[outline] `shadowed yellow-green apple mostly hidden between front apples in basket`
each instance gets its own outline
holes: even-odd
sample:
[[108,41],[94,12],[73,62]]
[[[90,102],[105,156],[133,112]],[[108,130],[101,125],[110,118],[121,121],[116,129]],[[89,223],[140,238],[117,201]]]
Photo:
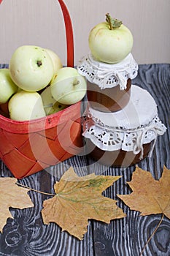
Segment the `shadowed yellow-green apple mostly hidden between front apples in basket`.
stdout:
[[50,86],[48,86],[44,91],[42,91],[41,97],[46,115],[51,115],[68,107],[68,105],[63,105],[59,102],[56,102],[56,100],[53,98],[51,94]]

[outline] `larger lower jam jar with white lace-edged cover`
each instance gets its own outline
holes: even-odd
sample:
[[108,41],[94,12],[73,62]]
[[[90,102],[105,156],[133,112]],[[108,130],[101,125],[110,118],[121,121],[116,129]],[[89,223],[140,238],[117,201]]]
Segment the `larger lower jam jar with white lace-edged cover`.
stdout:
[[104,113],[91,107],[85,112],[83,133],[86,154],[113,167],[136,165],[152,154],[155,140],[166,127],[148,91],[131,86],[131,99],[123,110]]

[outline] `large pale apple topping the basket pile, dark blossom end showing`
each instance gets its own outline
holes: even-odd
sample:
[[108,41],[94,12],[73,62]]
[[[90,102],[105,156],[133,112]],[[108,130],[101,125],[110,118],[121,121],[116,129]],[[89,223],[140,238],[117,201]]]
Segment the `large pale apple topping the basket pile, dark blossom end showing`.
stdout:
[[20,89],[39,91],[53,78],[53,61],[45,49],[34,45],[23,45],[12,54],[9,72]]

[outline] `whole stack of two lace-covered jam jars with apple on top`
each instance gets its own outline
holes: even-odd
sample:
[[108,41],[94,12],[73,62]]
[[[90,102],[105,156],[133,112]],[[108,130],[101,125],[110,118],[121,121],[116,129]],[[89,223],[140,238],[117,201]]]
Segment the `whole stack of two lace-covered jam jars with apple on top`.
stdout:
[[77,67],[88,81],[82,133],[87,154],[104,165],[135,165],[152,153],[166,127],[152,96],[131,84],[138,72],[133,36],[107,14],[106,22],[90,31],[88,42],[90,53]]

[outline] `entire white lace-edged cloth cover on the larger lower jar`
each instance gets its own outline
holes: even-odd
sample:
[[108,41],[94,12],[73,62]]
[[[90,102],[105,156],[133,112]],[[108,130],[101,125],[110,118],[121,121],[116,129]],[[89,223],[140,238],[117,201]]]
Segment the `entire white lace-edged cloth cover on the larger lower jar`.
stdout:
[[[158,118],[154,99],[139,86],[132,86],[128,105],[115,113],[101,113],[92,108],[85,111],[83,133],[104,151],[133,151],[143,157],[143,144],[156,141],[166,127]],[[152,145],[152,149],[155,143]],[[150,154],[152,150],[150,151]]]

